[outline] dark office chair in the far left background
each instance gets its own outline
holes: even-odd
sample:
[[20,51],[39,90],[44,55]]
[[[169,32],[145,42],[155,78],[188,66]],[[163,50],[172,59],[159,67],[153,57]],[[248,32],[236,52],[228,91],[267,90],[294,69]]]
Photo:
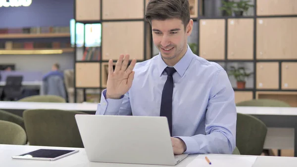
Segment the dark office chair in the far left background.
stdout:
[[22,81],[22,75],[6,77],[6,84],[2,92],[4,101],[15,101],[22,95]]

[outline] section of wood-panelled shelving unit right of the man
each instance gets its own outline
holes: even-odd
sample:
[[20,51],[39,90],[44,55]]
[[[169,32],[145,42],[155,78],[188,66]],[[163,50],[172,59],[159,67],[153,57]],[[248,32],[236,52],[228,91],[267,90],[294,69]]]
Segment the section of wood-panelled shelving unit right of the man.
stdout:
[[231,65],[253,72],[246,89],[238,89],[229,77],[236,103],[270,98],[297,107],[297,0],[252,2],[248,15],[225,16],[219,6],[212,13],[205,11],[214,8],[205,6],[210,0],[198,0],[199,14],[193,19],[197,55],[218,62],[227,72]]

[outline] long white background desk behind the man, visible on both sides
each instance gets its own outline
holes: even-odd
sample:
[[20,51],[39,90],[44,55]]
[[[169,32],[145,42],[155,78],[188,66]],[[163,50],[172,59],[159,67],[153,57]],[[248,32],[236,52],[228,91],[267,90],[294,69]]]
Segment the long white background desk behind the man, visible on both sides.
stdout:
[[[0,102],[0,109],[20,116],[29,109],[75,110],[95,114],[97,107],[97,103]],[[297,157],[297,108],[237,107],[237,112],[256,116],[269,128],[264,149],[294,149]]]

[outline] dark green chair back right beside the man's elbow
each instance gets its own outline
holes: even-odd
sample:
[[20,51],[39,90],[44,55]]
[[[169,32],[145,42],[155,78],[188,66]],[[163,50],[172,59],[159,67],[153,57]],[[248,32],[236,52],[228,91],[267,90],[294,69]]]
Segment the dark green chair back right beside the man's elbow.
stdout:
[[252,115],[237,113],[236,146],[242,155],[261,155],[267,127]]

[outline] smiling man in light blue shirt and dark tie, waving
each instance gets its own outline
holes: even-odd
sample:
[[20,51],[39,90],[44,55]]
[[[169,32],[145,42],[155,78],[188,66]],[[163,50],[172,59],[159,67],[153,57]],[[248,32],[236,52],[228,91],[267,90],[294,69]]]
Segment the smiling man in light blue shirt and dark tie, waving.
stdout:
[[120,55],[114,71],[109,60],[96,114],[166,116],[174,154],[232,154],[234,91],[220,65],[187,45],[193,29],[188,0],[150,0],[146,19],[159,55],[133,59],[128,67],[129,55]]

